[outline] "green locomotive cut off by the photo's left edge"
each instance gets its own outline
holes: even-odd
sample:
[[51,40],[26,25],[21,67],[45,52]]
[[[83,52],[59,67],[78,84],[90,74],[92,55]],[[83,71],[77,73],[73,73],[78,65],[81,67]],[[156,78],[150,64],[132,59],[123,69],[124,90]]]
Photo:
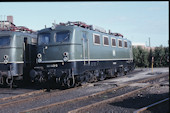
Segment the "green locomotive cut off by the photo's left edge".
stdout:
[[36,59],[37,35],[31,32],[21,26],[0,30],[0,85],[28,79]]

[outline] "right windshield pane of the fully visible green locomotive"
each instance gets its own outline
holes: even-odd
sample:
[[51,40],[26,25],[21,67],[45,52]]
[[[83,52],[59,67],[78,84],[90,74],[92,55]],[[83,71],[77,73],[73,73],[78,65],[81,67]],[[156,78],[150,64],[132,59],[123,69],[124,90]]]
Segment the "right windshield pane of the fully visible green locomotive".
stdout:
[[69,31],[60,31],[57,32],[55,35],[55,42],[68,42],[70,39],[70,33]]

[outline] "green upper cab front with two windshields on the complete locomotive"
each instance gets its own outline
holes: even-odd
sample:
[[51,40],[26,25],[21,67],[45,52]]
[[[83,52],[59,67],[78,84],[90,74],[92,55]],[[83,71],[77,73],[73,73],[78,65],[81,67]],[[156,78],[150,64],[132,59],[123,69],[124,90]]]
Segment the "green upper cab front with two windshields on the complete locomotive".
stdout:
[[[39,33],[37,62],[62,62],[62,60],[68,60],[63,58],[63,54],[64,52],[69,53],[71,39],[72,32],[70,30],[55,30]],[[61,54],[62,52],[63,54]]]

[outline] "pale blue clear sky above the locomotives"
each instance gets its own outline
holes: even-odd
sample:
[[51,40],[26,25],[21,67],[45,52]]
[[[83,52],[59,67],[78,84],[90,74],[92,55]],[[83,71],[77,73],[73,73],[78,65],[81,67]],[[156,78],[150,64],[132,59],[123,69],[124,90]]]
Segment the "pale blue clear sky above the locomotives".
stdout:
[[0,2],[0,20],[12,15],[14,24],[33,30],[57,23],[82,21],[107,32],[118,32],[132,43],[169,46],[169,2]]

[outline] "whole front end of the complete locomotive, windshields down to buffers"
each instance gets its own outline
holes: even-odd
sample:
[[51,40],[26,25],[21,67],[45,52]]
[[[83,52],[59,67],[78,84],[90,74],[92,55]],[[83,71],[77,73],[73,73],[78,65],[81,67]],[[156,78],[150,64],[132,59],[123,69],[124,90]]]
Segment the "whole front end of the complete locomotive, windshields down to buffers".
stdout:
[[63,74],[70,73],[72,30],[60,26],[47,28],[38,33],[37,66],[30,72],[32,81],[40,83],[53,79],[60,83]]

